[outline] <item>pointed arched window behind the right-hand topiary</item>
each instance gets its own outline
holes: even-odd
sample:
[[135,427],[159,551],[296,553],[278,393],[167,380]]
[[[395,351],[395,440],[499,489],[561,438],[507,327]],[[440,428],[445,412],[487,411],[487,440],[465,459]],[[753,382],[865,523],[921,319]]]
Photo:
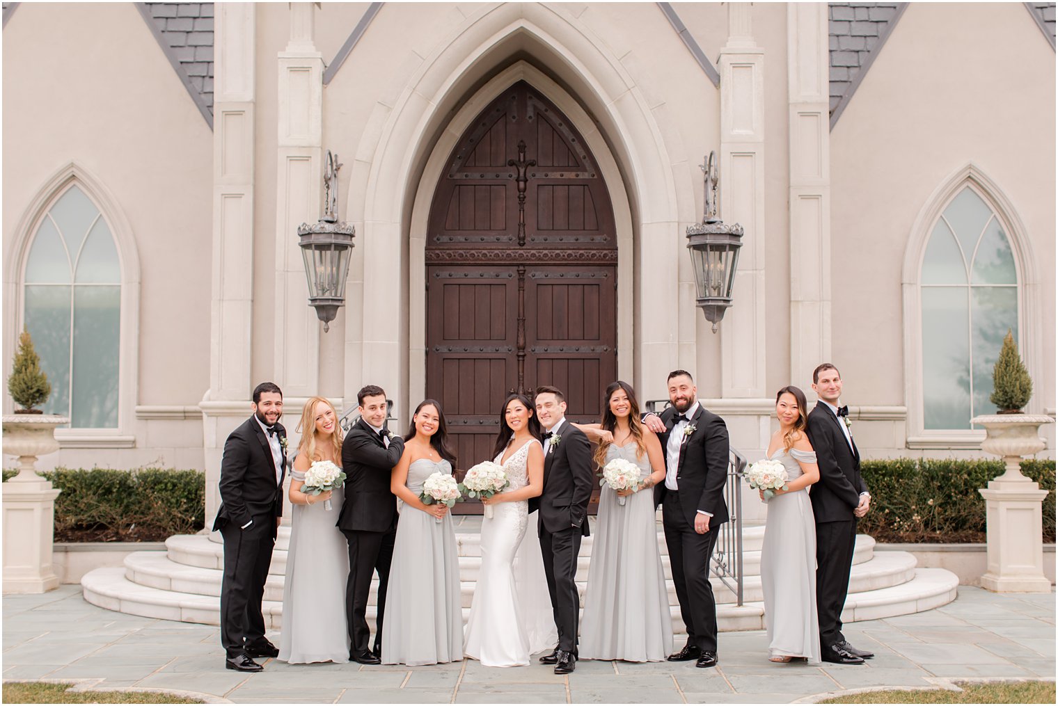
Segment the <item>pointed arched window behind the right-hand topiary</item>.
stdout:
[[925,430],[970,429],[996,411],[992,367],[1007,330],[1018,340],[1018,271],[1007,228],[969,184],[930,231],[922,262]]

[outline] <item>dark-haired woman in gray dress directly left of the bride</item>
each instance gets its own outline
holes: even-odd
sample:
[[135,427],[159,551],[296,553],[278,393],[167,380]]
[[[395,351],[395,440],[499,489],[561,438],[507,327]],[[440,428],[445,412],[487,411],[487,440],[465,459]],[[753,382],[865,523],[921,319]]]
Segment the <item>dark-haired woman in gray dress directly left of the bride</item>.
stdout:
[[[423,504],[422,484],[435,472],[452,475],[441,406],[426,400],[412,415],[404,453],[391,488],[400,520],[386,590],[382,663],[434,665],[463,656],[459,558],[449,508]],[[441,522],[436,520],[440,519]]]

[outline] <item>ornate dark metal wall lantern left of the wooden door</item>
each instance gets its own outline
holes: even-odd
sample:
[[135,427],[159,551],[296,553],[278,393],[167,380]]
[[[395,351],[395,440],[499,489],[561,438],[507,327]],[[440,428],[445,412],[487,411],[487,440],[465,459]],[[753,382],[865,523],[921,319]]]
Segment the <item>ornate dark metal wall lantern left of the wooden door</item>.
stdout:
[[297,227],[297,244],[305,260],[305,277],[309,284],[309,305],[330,331],[330,322],[345,303],[345,283],[349,278],[352,239],[355,228],[338,220],[338,171],[342,165],[338,155],[327,150],[324,169],[324,215],[312,225]]

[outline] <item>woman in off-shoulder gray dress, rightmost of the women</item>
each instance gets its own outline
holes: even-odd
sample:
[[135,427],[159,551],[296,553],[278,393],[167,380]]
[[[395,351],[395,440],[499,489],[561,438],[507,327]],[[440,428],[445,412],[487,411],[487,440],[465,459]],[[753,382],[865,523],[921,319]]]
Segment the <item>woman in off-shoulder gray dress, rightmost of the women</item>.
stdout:
[[768,520],[761,551],[768,657],[771,662],[803,657],[816,665],[820,662],[816,520],[808,487],[819,480],[819,467],[805,433],[808,410],[804,392],[794,386],[780,390],[776,414],[779,431],[768,444],[768,458],[786,467],[787,483],[785,490],[776,490],[767,501]]

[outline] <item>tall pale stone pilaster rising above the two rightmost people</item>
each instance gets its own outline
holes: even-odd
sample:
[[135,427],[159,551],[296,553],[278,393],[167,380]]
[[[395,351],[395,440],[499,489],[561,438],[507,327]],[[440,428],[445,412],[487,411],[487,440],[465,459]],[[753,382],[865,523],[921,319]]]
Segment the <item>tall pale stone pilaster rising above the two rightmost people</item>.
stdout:
[[831,359],[829,54],[825,3],[787,5],[789,378],[807,388]]

